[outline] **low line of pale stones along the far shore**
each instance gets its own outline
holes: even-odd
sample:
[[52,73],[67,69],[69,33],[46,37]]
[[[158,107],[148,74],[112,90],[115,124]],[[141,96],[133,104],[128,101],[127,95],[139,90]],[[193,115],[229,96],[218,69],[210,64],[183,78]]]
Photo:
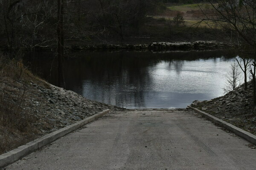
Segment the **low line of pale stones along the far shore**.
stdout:
[[71,46],[71,50],[152,50],[152,51],[165,51],[165,50],[212,50],[223,49],[228,45],[223,42],[215,41],[193,41],[193,42],[153,42],[151,44],[137,44],[137,45],[88,45],[88,46]]

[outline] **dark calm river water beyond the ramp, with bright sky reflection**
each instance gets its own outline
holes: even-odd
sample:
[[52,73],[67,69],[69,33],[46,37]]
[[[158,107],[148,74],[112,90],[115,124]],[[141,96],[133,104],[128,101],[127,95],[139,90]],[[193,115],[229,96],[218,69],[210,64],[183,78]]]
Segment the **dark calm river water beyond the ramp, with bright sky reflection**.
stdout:
[[[224,51],[69,55],[65,62],[68,90],[125,108],[186,108],[194,100],[222,96],[225,74],[233,62]],[[35,61],[36,72],[57,85],[57,62],[53,58],[54,54],[41,53]]]

